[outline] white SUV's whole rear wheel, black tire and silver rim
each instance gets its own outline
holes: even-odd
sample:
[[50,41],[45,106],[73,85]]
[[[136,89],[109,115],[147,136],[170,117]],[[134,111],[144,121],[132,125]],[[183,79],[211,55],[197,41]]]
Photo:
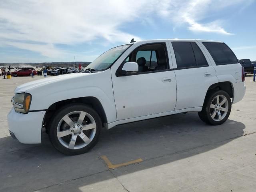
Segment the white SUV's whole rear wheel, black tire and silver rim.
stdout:
[[200,119],[212,125],[224,123],[231,111],[231,100],[228,93],[222,90],[211,91],[205,99],[202,111],[198,112]]

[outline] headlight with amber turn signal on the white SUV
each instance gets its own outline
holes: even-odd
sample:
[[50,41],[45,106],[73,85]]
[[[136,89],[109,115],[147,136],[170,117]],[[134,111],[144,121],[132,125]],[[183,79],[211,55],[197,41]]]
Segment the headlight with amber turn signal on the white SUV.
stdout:
[[14,110],[20,113],[28,113],[32,96],[28,93],[15,94],[12,98]]

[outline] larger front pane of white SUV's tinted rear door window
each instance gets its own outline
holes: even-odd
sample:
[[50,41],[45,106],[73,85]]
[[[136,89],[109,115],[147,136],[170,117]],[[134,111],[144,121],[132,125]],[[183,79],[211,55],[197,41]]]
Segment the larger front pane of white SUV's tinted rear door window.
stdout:
[[196,66],[196,59],[190,42],[172,42],[178,68]]

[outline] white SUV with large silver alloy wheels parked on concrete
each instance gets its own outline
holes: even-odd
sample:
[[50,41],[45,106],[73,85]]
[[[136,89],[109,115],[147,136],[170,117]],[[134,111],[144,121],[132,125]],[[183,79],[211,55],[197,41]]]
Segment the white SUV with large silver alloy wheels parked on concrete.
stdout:
[[8,124],[22,143],[41,143],[45,127],[57,150],[81,154],[102,127],[191,111],[222,124],[245,90],[243,68],[223,42],[132,41],[108,50],[84,73],[18,86]]

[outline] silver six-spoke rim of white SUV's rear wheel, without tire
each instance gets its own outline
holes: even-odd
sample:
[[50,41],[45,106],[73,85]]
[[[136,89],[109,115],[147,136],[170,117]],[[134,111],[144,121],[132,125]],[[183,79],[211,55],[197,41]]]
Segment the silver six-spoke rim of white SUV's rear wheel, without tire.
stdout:
[[217,95],[211,102],[210,115],[214,121],[221,121],[228,112],[228,100],[224,95]]

